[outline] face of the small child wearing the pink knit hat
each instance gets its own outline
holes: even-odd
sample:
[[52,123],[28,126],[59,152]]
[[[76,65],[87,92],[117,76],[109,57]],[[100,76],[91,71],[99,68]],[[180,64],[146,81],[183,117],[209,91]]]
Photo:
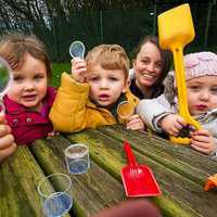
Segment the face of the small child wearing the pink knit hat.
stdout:
[[187,81],[189,112],[199,115],[217,107],[217,76],[203,76]]

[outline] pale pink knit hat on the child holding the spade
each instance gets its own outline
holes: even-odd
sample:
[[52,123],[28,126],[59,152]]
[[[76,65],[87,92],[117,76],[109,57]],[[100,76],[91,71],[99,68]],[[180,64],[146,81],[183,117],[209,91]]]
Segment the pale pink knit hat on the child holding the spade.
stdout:
[[217,55],[199,52],[184,55],[186,80],[206,75],[217,76]]

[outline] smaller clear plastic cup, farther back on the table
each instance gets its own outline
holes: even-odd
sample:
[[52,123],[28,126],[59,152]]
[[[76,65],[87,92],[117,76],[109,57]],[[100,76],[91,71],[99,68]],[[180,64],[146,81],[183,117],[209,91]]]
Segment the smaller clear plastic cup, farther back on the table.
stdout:
[[85,144],[72,144],[65,150],[65,161],[69,174],[86,174],[90,167],[89,148]]

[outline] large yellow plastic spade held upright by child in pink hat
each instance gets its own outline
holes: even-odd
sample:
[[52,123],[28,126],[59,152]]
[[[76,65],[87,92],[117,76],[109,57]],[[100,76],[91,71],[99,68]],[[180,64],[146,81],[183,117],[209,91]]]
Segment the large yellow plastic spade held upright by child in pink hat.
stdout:
[[[186,73],[183,67],[183,47],[195,36],[191,11],[188,3],[168,10],[157,16],[159,44],[171,50],[175,62],[176,84],[178,88],[179,115],[186,122],[200,129],[201,125],[189,113],[187,101]],[[189,138],[170,137],[174,143],[189,144]]]

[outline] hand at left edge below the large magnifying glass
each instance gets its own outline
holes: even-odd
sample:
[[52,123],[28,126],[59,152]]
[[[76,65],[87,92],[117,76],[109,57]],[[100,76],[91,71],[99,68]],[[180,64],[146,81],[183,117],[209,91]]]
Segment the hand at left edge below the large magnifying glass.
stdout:
[[7,122],[0,116],[0,162],[10,156],[16,149],[14,137]]

